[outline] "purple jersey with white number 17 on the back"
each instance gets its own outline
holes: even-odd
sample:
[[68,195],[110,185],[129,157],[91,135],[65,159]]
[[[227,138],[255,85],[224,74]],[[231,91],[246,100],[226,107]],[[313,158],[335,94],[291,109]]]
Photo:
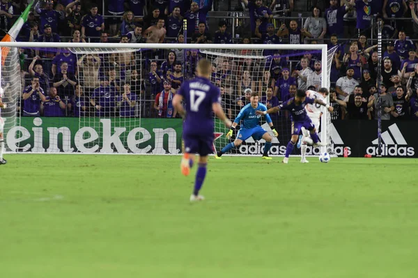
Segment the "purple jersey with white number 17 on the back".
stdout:
[[178,90],[178,95],[186,101],[186,120],[183,134],[188,136],[206,136],[213,138],[214,124],[212,104],[220,103],[219,88],[209,79],[197,77],[185,81]]

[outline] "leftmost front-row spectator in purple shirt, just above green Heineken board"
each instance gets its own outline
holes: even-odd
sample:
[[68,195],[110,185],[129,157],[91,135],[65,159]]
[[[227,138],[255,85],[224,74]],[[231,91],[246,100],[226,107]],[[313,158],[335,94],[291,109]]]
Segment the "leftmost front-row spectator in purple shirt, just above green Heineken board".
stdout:
[[39,78],[32,77],[31,85],[24,88],[23,116],[37,117],[40,115],[40,101],[45,101],[45,93],[40,88]]

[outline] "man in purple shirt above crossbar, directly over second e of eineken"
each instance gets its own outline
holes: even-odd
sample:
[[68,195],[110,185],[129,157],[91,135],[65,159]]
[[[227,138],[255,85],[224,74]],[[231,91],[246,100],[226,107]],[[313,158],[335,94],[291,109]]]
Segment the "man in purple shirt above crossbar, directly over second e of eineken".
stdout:
[[90,13],[82,19],[82,38],[90,38],[90,42],[98,42],[104,31],[104,19],[98,14],[98,5],[91,4]]

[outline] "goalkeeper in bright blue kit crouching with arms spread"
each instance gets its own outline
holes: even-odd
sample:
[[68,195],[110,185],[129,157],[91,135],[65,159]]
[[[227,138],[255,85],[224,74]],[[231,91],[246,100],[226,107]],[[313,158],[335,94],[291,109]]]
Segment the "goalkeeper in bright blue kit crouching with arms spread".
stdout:
[[[238,147],[241,145],[242,141],[252,137],[254,140],[260,140],[261,138],[265,140],[263,159],[272,159],[270,156],[268,156],[268,151],[270,150],[270,147],[272,147],[272,136],[270,136],[270,134],[260,126],[261,117],[260,115],[256,114],[256,111],[267,111],[267,107],[264,104],[258,103],[258,93],[253,92],[251,94],[250,103],[241,109],[240,113],[233,121],[229,132],[226,133],[226,138],[231,138],[236,126],[242,120],[241,129],[238,131],[236,139],[226,145],[222,151],[217,152],[215,158],[221,159],[222,154],[229,152],[235,147]],[[274,136],[277,137],[279,133],[277,133],[276,129],[274,129],[272,119],[268,114],[265,115],[265,121],[272,129]]]

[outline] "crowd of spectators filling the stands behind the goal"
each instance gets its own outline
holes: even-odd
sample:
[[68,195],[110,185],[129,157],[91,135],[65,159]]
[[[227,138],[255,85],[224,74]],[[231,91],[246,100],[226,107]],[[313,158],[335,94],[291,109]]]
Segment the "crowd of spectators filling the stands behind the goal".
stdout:
[[[249,32],[231,34],[230,21],[209,28],[213,0],[107,1],[104,16],[90,1],[39,1],[22,27],[23,42],[120,42],[183,44],[328,44],[337,47],[330,70],[332,119],[418,119],[418,17],[413,0],[330,0],[309,17],[290,15],[293,0],[241,0],[249,10]],[[146,10],[146,7],[150,7]],[[1,0],[0,28],[6,33],[24,6]],[[289,13],[288,13],[289,12]],[[187,19],[186,38],[183,19]],[[381,22],[381,24],[379,24]],[[235,23],[233,23],[235,24]],[[380,27],[379,27],[380,26]],[[376,37],[382,29],[382,67]],[[373,39],[372,39],[373,37]],[[245,47],[243,46],[243,49]],[[212,60],[212,79],[229,117],[258,92],[268,107],[296,90],[318,89],[323,70],[315,51],[245,51]],[[67,49],[22,48],[24,116],[177,117],[171,105],[185,79],[194,76],[199,49],[148,49],[109,54],[72,54]],[[244,58],[249,55],[266,59]],[[379,79],[380,88],[376,84]],[[7,85],[3,85],[7,87]],[[272,115],[273,117],[287,117]]]

